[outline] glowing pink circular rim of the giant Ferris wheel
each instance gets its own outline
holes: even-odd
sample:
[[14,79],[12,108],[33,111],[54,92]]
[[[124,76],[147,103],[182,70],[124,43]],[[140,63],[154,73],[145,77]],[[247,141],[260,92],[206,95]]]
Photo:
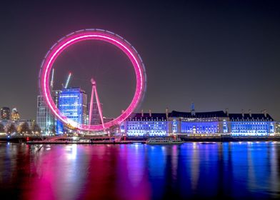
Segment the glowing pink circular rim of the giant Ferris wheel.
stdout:
[[[51,91],[49,87],[49,75],[51,73],[51,68],[61,52],[79,41],[93,39],[109,42],[110,44],[114,44],[114,46],[117,46],[119,49],[121,49],[121,51],[123,51],[126,56],[129,57],[129,60],[134,66],[134,71],[136,74],[136,90],[131,104],[129,104],[129,107],[125,111],[123,111],[120,116],[116,117],[116,119],[114,119],[113,121],[104,123],[104,126],[102,126],[102,124],[78,124],[61,114],[59,109],[56,107],[56,104],[54,104],[53,99],[51,98]],[[110,31],[104,31],[101,29],[84,29],[64,36],[62,39],[57,41],[54,46],[51,47],[41,64],[41,70],[39,73],[39,87],[41,95],[44,96],[46,104],[51,110],[52,114],[54,114],[57,119],[61,120],[64,124],[72,127],[73,129],[79,129],[81,131],[101,131],[120,124],[134,112],[137,106],[139,106],[142,99],[144,98],[144,93],[146,91],[146,72],[140,55],[138,54],[136,49],[134,49],[134,47],[131,46],[131,44],[129,44],[129,42],[124,38]]]

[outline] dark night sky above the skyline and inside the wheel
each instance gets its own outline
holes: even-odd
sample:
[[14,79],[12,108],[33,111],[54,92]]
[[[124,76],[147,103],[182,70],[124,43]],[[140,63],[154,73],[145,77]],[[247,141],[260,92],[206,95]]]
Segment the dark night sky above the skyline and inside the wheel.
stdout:
[[[24,119],[36,117],[37,79],[46,51],[62,36],[87,28],[113,31],[139,51],[148,77],[146,111],[189,111],[194,101],[197,111],[267,109],[280,119],[280,1],[1,1],[0,28],[0,106],[16,106]],[[133,71],[108,44],[79,44],[61,55],[56,85],[69,68],[74,70],[71,86],[80,79],[88,87],[82,79],[96,68],[77,71],[74,66],[92,64],[114,65],[118,78],[107,70],[108,84],[128,85],[127,96],[122,89],[121,95],[107,92],[112,95],[106,97],[105,75],[96,78],[104,107],[129,102],[133,84],[125,82],[133,82]]]

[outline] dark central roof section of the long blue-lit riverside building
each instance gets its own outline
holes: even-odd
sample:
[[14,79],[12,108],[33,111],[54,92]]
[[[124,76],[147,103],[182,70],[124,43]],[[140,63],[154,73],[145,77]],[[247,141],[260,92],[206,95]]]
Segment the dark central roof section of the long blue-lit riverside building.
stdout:
[[227,117],[224,111],[210,111],[210,112],[191,112],[171,111],[169,117],[184,117],[184,118],[212,118],[212,117]]

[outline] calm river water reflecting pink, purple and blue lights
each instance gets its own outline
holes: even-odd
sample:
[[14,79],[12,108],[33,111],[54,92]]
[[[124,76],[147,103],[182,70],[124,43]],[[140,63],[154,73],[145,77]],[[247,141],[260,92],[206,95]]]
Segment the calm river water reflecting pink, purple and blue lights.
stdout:
[[280,199],[280,143],[0,144],[0,199]]

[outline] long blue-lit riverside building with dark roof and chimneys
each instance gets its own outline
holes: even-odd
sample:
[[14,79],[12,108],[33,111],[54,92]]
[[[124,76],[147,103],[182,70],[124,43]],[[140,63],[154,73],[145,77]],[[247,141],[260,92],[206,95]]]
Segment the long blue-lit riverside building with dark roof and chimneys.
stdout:
[[190,112],[171,111],[165,114],[137,113],[120,125],[121,132],[127,136],[269,136],[279,131],[279,127],[266,111],[261,114],[251,114],[251,111],[249,114],[229,114],[228,111],[195,112],[194,109]]

